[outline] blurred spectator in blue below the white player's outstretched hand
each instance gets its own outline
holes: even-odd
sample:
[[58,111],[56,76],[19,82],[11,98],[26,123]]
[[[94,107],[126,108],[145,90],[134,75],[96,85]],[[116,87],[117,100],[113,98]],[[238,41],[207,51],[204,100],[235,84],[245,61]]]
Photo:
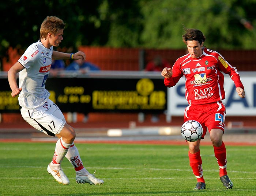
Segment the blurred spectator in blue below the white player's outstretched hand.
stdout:
[[100,70],[98,66],[86,62],[83,59],[78,59],[78,60],[74,60],[72,63],[69,64],[69,66],[67,66],[65,68],[65,70],[69,70],[69,71],[79,71],[79,70],[84,70],[84,71],[98,71]]

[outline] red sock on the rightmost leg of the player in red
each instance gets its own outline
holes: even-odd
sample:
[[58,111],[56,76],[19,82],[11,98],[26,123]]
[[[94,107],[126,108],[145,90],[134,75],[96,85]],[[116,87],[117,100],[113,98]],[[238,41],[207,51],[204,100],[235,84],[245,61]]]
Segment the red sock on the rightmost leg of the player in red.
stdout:
[[213,148],[214,155],[219,164],[219,177],[227,175],[227,152],[224,142],[222,142],[221,146],[213,146]]

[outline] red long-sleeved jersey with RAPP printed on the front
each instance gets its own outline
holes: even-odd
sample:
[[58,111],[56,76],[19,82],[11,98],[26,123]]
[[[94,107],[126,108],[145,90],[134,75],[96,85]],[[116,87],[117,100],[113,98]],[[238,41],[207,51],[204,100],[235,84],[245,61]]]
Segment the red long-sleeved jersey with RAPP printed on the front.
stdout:
[[172,67],[173,75],[164,79],[167,87],[177,84],[184,75],[185,98],[189,104],[202,105],[225,99],[224,75],[229,74],[236,87],[244,89],[235,67],[232,67],[218,52],[204,47],[202,56],[181,56]]

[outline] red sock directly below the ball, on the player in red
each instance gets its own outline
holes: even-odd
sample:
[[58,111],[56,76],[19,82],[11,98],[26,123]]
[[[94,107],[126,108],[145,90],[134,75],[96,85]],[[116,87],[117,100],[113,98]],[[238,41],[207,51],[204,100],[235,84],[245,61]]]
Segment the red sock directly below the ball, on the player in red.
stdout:
[[200,150],[195,154],[191,154],[190,152],[188,152],[188,157],[189,165],[192,168],[193,174],[196,176],[197,182],[205,183],[203,177],[202,158],[200,156]]

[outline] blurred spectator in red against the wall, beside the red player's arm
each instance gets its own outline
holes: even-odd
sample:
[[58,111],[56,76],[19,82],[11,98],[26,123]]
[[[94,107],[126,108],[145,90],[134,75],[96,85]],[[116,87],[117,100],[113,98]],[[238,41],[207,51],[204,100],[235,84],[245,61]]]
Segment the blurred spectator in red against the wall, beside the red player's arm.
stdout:
[[170,63],[163,59],[161,56],[157,55],[155,58],[148,62],[145,71],[162,71],[163,68],[170,67]]

